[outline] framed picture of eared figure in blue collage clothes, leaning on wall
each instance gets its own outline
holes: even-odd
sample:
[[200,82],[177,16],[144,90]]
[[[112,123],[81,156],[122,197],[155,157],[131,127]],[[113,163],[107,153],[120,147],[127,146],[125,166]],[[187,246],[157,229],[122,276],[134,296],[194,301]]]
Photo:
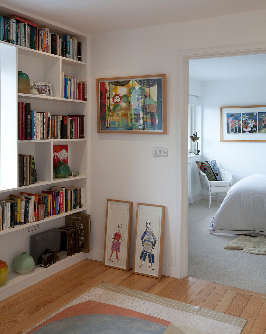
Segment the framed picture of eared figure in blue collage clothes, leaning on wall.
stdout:
[[137,203],[133,273],[161,278],[164,205]]

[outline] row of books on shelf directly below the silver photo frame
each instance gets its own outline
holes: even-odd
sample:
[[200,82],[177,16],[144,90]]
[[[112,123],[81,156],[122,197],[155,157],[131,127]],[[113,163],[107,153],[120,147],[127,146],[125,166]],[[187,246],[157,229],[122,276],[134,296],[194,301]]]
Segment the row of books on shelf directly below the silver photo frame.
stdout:
[[83,139],[84,115],[54,116],[39,113],[30,103],[18,103],[18,140]]

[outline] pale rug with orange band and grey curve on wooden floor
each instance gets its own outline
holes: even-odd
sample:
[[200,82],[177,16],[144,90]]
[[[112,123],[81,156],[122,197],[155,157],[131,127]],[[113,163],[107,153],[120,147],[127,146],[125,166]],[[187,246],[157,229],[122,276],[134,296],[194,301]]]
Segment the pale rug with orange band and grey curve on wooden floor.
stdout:
[[239,334],[247,320],[102,282],[25,333]]

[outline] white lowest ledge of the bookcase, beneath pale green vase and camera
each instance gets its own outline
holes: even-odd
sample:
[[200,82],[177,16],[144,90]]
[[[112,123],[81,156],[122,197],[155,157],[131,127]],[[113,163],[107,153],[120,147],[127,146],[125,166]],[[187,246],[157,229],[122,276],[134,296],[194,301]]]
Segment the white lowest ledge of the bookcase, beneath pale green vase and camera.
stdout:
[[45,278],[58,273],[59,271],[68,268],[76,263],[87,258],[87,253],[79,253],[67,257],[61,261],[57,261],[55,264],[48,268],[41,268],[36,266],[32,271],[27,274],[19,274],[15,271],[9,273],[9,278],[0,287],[0,300],[14,295],[15,293],[28,288],[29,286],[38,283]]

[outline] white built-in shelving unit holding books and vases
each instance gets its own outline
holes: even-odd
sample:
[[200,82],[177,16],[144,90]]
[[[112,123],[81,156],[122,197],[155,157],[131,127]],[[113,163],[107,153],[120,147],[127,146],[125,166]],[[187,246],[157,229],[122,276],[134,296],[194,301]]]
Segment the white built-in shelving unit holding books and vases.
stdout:
[[[34,18],[26,13],[18,13],[7,6],[0,5],[0,15],[16,15],[34,22],[38,27],[47,26],[49,31],[59,35],[76,36],[84,44],[84,59],[87,59],[86,34],[73,31],[67,27],[55,25],[52,22]],[[4,69],[4,71],[3,71]],[[30,81],[51,82],[53,97],[33,96],[17,92],[18,70],[28,74]],[[39,228],[23,234],[29,224],[16,225],[0,231],[0,259],[9,268],[9,279],[0,287],[0,300],[12,295],[54,273],[63,270],[87,257],[85,253],[70,256],[48,268],[35,267],[28,274],[18,274],[12,271],[14,259],[21,252],[29,253],[30,235],[50,228],[64,225],[64,217],[68,214],[87,213],[88,203],[88,110],[87,101],[61,98],[61,72],[70,78],[88,81],[87,61],[77,61],[61,56],[32,50],[18,45],[0,41],[0,98],[1,98],[1,184],[0,199],[20,191],[39,193],[50,186],[83,187],[83,207],[61,215],[53,215],[37,221]],[[6,72],[6,76],[3,73]],[[5,74],[5,73],[4,73]],[[10,81],[7,81],[7,79]],[[6,83],[9,84],[8,87]],[[13,89],[12,89],[13,87]],[[56,140],[18,140],[18,102],[31,104],[31,109],[37,112],[50,112],[51,115],[83,114],[85,115],[84,139]],[[5,124],[3,124],[5,121]],[[6,123],[7,122],[7,123]],[[8,135],[8,136],[7,136]],[[10,140],[11,137],[11,140]],[[3,145],[3,142],[6,145]],[[53,145],[69,145],[69,166],[79,172],[79,176],[69,176],[65,179],[52,179],[52,147]],[[8,152],[8,153],[7,153]],[[8,157],[6,158],[6,154]],[[18,154],[34,155],[37,171],[37,183],[18,187]],[[9,171],[9,172],[8,172]],[[3,172],[5,175],[3,175]],[[6,186],[4,180],[9,180]],[[7,189],[8,188],[8,189]],[[31,223],[31,224],[36,224]],[[28,235],[29,234],[29,235]]]

